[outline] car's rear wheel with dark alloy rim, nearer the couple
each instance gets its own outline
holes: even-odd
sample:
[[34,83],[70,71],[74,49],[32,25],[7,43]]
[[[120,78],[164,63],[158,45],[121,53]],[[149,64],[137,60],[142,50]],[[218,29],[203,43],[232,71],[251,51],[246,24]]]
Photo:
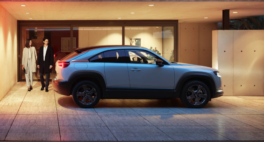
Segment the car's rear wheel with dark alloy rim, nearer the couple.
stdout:
[[91,81],[81,81],[73,88],[72,99],[82,108],[94,107],[101,98],[99,87]]

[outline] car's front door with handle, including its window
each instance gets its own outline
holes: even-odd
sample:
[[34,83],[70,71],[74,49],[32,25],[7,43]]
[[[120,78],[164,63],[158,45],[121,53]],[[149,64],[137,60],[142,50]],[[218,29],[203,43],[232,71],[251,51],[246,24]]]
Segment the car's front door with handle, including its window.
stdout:
[[160,59],[146,50],[126,50],[130,57],[128,74],[131,93],[140,98],[171,98],[174,92],[174,68],[156,65]]

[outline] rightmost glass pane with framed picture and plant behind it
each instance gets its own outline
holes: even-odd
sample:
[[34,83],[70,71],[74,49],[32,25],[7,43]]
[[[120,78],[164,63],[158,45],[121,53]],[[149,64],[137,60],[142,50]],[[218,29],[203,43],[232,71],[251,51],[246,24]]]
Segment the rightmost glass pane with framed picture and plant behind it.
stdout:
[[146,47],[174,61],[174,27],[125,27],[125,44]]

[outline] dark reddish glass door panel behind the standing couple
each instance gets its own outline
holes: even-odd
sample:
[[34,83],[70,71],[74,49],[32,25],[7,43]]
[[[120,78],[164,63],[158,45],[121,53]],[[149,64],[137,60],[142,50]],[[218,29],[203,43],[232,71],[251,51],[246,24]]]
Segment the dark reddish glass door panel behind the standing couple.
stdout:
[[[74,35],[74,46],[78,46],[75,40],[78,40],[78,33]],[[19,46],[19,80],[25,81],[25,73],[22,71],[22,52],[25,48],[25,42],[28,38],[32,39],[32,46],[37,50],[39,56],[39,48],[44,45],[43,38],[49,38],[49,46],[53,47],[54,63],[50,79],[55,77],[55,63],[56,61],[70,53],[70,27],[21,27],[21,41]],[[37,61],[36,61],[37,64]],[[33,81],[38,81],[39,70],[33,73]]]

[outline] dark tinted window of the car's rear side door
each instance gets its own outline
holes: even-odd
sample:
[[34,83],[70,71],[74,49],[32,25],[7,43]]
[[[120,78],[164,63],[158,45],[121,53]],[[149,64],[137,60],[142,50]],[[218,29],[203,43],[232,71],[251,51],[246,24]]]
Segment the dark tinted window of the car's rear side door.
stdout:
[[125,63],[124,50],[111,50],[104,52],[104,62]]

